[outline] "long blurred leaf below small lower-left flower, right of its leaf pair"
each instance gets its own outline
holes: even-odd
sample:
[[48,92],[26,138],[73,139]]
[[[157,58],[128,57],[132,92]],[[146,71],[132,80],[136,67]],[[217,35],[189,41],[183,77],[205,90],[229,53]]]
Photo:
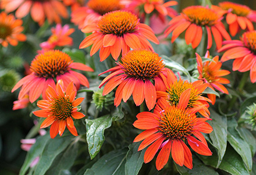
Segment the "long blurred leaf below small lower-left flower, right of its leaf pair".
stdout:
[[50,140],[46,145],[44,152],[42,152],[42,156],[37,163],[34,174],[45,174],[56,156],[67,148],[72,138],[74,138],[73,135],[62,135],[62,137],[57,136]]

